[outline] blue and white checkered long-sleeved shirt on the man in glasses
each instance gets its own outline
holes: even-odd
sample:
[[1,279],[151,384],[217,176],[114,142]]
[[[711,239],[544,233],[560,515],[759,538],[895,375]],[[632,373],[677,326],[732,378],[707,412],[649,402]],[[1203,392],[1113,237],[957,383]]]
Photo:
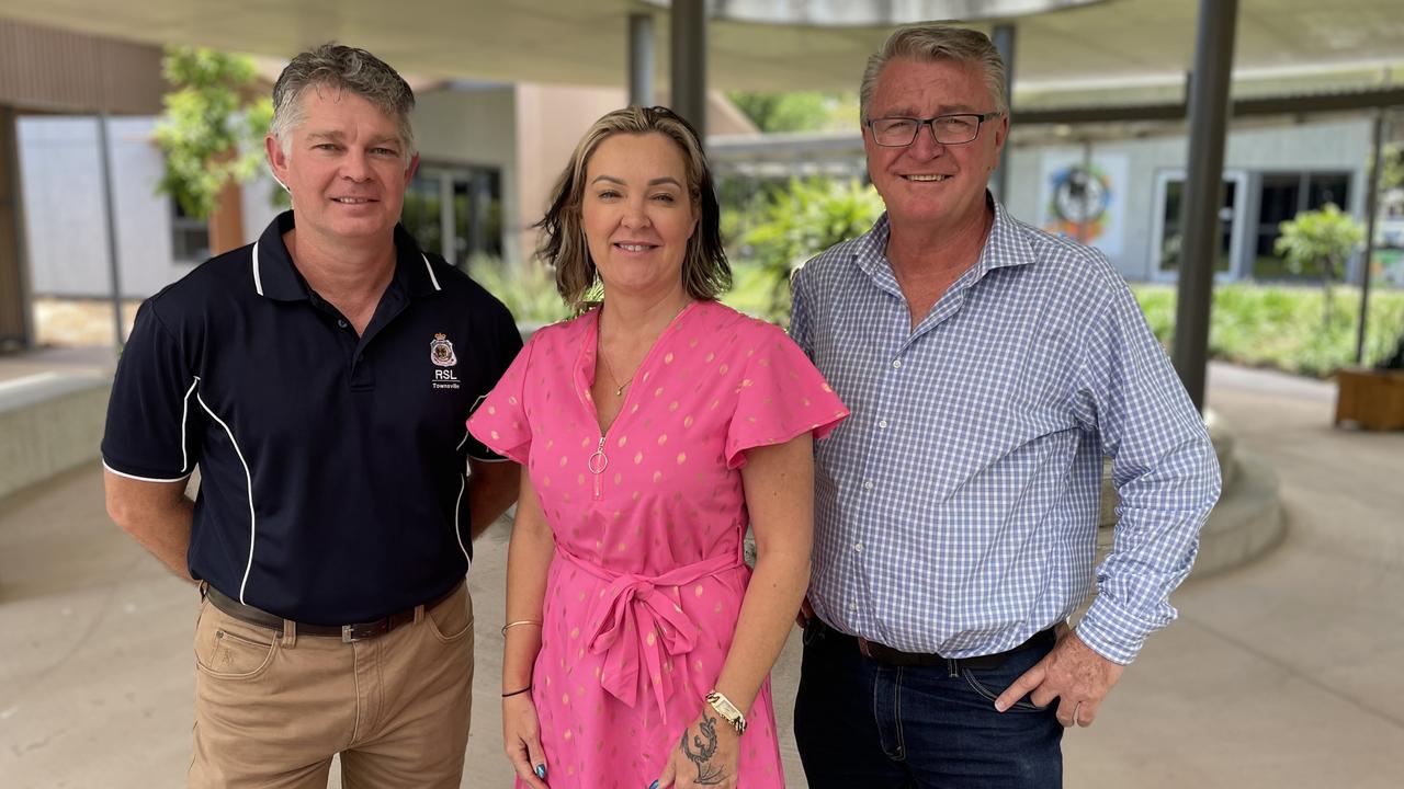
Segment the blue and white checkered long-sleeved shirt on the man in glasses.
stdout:
[[792,334],[852,416],[816,445],[810,602],[917,653],[1011,649],[1092,591],[1102,456],[1120,496],[1077,633],[1130,663],[1175,618],[1219,498],[1203,420],[1116,270],[995,205],[911,329],[887,218],[795,277]]

